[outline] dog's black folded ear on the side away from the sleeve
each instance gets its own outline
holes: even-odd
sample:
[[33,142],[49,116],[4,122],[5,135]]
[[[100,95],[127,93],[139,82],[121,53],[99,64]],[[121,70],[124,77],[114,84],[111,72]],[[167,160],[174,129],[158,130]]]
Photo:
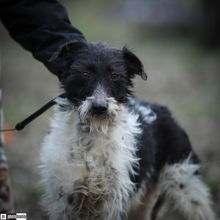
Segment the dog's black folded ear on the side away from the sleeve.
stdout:
[[141,76],[143,80],[147,80],[147,74],[144,72],[143,64],[138,59],[138,57],[134,55],[127,47],[124,47],[122,51],[123,51],[125,66],[131,78],[134,78],[135,74],[138,74]]

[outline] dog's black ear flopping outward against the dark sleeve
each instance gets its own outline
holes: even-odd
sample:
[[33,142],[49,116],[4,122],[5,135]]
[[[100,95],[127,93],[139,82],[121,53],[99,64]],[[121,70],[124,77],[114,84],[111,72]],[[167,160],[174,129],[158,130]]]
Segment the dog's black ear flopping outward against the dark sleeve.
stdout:
[[53,61],[58,57],[65,59],[69,54],[77,53],[77,51],[83,48],[85,45],[85,40],[75,40],[62,44],[59,46],[58,51],[55,52],[50,58],[50,61]]

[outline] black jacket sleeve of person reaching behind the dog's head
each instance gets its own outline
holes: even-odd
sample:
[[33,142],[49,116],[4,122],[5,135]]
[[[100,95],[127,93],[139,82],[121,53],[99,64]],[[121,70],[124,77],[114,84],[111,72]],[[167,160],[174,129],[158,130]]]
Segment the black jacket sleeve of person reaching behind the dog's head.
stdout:
[[57,76],[65,61],[49,62],[53,53],[63,43],[84,38],[56,0],[0,0],[0,17],[11,37]]

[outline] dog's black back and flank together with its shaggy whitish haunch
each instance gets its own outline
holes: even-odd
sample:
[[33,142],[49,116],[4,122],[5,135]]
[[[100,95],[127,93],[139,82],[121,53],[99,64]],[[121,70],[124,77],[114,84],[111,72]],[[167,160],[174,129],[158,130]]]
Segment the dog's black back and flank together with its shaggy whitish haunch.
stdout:
[[215,219],[209,190],[201,181],[199,159],[170,111],[135,99],[130,108],[139,115],[143,129],[138,138],[140,169],[135,181],[140,188],[147,183],[144,205],[135,207],[130,219]]

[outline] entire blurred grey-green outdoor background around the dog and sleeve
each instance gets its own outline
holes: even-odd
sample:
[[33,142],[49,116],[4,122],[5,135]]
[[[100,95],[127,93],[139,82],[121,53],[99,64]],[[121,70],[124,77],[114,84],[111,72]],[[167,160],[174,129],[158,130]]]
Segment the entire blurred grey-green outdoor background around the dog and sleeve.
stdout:
[[[169,106],[202,161],[220,215],[220,1],[60,1],[88,41],[133,48],[148,74],[135,79],[136,96]],[[59,81],[21,48],[0,24],[1,86],[5,128],[62,91]],[[39,205],[39,150],[49,110],[24,131],[5,133],[16,212],[47,219]]]

